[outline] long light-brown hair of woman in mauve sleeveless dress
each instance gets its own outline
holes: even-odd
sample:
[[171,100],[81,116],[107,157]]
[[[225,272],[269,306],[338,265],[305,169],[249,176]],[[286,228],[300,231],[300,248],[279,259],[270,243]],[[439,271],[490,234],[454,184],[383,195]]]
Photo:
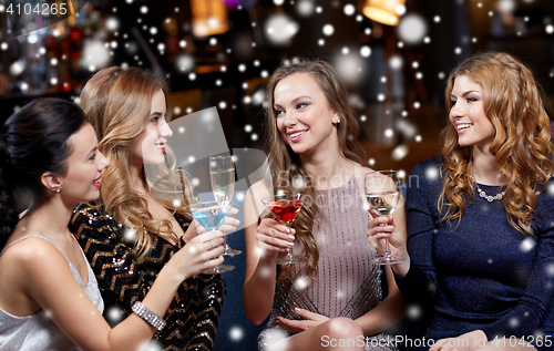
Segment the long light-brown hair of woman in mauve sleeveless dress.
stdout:
[[[271,75],[266,89],[268,103],[266,109],[266,145],[268,145],[269,148],[269,169],[274,175],[279,174],[286,177],[286,179],[283,179],[280,176],[278,179],[273,179],[274,192],[278,189],[293,192],[293,179],[296,179],[298,176],[309,177],[298,154],[294,153],[283,140],[277,128],[277,116],[274,111],[275,87],[283,79],[297,73],[310,74],[324,92],[330,109],[339,114],[340,124],[337,124],[337,135],[343,155],[363,166],[368,166],[366,151],[358,142],[359,130],[356,113],[350,105],[348,92],[339,80],[335,69],[322,60],[299,60],[298,62],[279,66]],[[314,188],[314,183],[306,182],[305,184],[306,187],[301,190],[302,195],[315,199],[316,190]],[[305,264],[306,272],[308,277],[315,279],[317,262],[319,260],[319,250],[314,238],[312,228],[318,206],[316,200],[309,202],[306,205],[302,206],[297,215],[294,227],[296,229],[296,240],[308,258]],[[280,266],[280,268],[278,281],[283,281],[289,277],[293,270],[291,266]]]

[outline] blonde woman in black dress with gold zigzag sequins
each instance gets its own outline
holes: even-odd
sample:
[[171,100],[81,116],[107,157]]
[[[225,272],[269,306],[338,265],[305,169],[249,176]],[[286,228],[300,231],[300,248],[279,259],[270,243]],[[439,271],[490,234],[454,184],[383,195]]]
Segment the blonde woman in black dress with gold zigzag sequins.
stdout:
[[[103,176],[101,200],[78,206],[70,228],[91,262],[104,300],[126,316],[171,257],[197,236],[185,207],[154,198],[145,177],[144,165],[165,164],[167,138],[173,134],[166,122],[167,87],[150,71],[113,66],[86,83],[80,105],[111,168]],[[229,218],[226,224],[237,221]],[[206,252],[189,255],[199,258]],[[155,335],[164,349],[213,348],[224,280],[220,275],[199,272],[178,287],[165,312],[167,326]]]

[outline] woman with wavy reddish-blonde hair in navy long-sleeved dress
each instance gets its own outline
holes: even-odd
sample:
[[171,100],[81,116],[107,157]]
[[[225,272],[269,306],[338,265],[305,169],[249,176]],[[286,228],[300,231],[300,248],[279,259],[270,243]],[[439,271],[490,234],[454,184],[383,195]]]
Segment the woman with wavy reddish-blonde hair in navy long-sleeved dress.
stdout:
[[554,296],[553,145],[540,87],[514,56],[484,52],[451,72],[445,101],[442,156],[410,176],[408,241],[379,218],[370,242],[381,249],[390,237],[409,257],[392,269],[409,301],[433,309],[430,350],[551,350],[552,335],[535,333]]

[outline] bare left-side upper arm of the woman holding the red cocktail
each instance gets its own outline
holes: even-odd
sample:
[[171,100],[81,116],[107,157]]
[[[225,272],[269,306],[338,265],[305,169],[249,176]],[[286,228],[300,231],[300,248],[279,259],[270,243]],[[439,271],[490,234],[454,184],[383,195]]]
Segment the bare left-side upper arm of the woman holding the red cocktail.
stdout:
[[263,182],[255,183],[246,193],[244,205],[244,235],[246,247],[245,283],[250,279],[259,261],[256,228],[258,219],[265,210],[261,198],[270,195]]

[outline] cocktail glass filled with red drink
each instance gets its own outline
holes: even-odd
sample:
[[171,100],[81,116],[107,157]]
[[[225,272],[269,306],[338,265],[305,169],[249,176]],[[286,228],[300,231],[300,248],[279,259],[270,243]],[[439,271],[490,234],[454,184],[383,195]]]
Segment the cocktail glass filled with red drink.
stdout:
[[[265,197],[261,203],[269,209],[278,221],[286,225],[290,229],[290,225],[296,218],[296,215],[302,207],[301,194],[295,193],[291,195],[280,194]],[[277,258],[277,265],[291,265],[306,261],[306,256],[294,255],[293,248],[289,248],[287,255]]]

